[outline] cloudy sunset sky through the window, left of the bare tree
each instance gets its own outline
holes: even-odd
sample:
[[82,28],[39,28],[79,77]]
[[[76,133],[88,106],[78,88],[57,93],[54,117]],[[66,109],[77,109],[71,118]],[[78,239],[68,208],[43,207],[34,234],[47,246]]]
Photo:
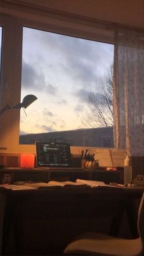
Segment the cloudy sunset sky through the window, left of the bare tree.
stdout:
[[21,109],[20,134],[84,128],[88,94],[111,64],[113,45],[24,27],[21,101],[38,99]]

